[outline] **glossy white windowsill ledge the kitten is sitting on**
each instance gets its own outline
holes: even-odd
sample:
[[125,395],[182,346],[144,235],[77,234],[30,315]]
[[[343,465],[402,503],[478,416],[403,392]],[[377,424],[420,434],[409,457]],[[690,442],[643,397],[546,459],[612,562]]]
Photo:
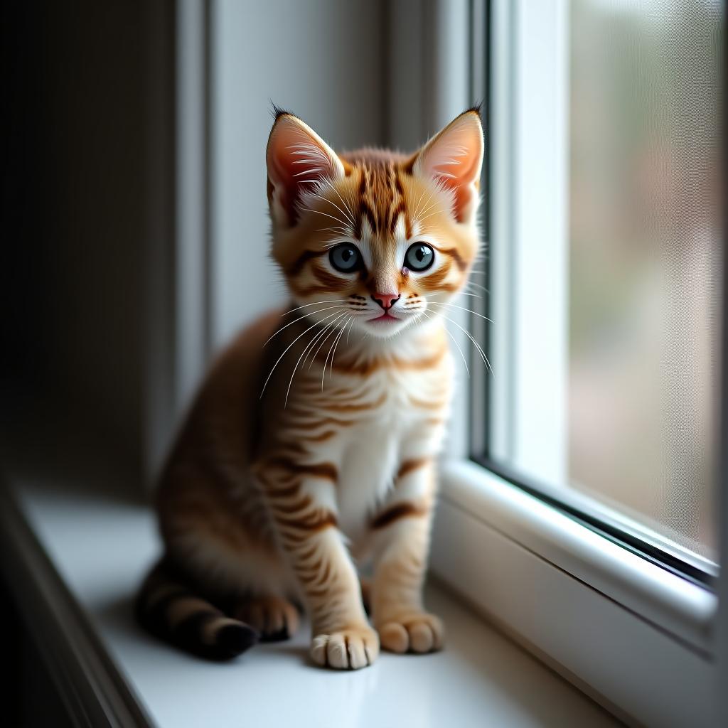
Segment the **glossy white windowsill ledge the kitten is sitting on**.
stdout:
[[[76,452],[95,452],[85,438],[71,440]],[[58,451],[72,456],[66,448]],[[79,604],[98,649],[154,724],[617,724],[437,587],[428,588],[427,604],[448,628],[448,644],[440,654],[382,654],[372,668],[333,673],[309,664],[304,628],[293,641],[256,646],[231,663],[187,657],[154,641],[132,619],[132,598],[159,542],[148,507],[98,487],[108,480],[108,459],[94,462],[90,454],[83,474],[73,482],[66,478],[61,490],[56,472],[73,472],[68,467],[44,474],[37,466],[17,465],[14,456],[4,464],[20,513]],[[43,578],[37,572],[31,577]],[[23,593],[16,596],[22,605]],[[70,633],[69,625],[46,626]]]

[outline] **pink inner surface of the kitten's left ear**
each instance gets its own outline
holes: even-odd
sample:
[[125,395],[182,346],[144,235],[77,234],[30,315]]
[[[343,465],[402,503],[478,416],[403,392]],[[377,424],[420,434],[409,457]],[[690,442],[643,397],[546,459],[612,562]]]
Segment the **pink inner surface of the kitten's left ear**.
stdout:
[[293,117],[280,119],[268,145],[268,177],[274,195],[288,215],[291,225],[296,223],[296,205],[301,195],[312,191],[321,178],[333,178],[335,170],[323,141],[310,134]]

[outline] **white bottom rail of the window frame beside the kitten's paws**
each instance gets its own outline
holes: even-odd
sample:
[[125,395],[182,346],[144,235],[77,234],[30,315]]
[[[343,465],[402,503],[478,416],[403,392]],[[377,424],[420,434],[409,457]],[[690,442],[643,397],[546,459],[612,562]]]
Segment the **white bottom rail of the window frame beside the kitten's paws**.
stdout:
[[443,464],[441,480],[443,582],[626,721],[716,725],[714,593],[476,464]]

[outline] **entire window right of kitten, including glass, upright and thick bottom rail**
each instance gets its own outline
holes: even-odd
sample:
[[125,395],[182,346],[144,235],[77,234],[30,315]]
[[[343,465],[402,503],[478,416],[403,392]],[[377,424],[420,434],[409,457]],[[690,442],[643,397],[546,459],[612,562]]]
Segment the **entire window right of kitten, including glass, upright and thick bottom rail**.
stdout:
[[493,373],[472,350],[433,568],[641,724],[717,724],[723,13],[470,6],[488,246],[457,323]]

